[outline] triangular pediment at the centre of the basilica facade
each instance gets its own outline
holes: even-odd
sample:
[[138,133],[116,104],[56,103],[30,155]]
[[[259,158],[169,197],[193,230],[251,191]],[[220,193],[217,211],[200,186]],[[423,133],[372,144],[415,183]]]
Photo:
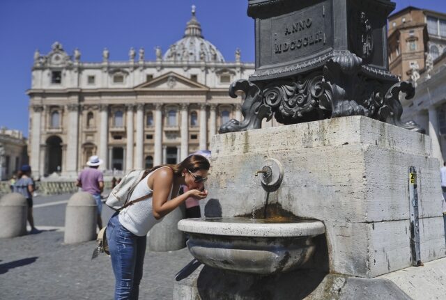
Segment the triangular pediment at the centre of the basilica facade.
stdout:
[[134,88],[135,90],[208,90],[207,86],[183,77],[176,72],[169,72],[144,82]]

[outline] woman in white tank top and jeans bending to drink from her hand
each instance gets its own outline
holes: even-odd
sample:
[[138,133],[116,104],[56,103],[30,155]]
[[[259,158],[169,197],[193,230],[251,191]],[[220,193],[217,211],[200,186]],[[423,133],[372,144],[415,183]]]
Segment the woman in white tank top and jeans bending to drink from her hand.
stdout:
[[[144,173],[127,204],[109,220],[105,235],[116,279],[115,299],[138,299],[148,231],[187,198],[208,196],[203,184],[209,168],[208,159],[201,155],[190,155],[176,165],[155,166]],[[181,185],[188,191],[176,196]]]

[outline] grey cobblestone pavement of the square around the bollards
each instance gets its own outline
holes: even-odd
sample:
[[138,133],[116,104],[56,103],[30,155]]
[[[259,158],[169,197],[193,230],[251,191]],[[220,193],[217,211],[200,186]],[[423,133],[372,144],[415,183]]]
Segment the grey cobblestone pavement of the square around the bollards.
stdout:
[[[70,195],[36,199],[51,203]],[[66,204],[34,209],[36,227],[61,225]],[[56,220],[51,216],[56,214]],[[108,220],[102,212],[104,223]],[[45,216],[45,219],[40,219]],[[107,255],[91,260],[95,242],[63,244],[63,231],[0,239],[0,299],[113,299],[114,276]],[[139,299],[172,299],[175,274],[192,260],[187,248],[171,252],[147,251]]]

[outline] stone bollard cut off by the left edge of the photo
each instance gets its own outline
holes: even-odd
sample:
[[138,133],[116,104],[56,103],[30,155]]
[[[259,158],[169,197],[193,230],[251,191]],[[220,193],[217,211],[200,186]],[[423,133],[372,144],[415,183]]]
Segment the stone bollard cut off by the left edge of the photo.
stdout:
[[28,204],[26,198],[11,193],[0,199],[0,237],[26,235]]

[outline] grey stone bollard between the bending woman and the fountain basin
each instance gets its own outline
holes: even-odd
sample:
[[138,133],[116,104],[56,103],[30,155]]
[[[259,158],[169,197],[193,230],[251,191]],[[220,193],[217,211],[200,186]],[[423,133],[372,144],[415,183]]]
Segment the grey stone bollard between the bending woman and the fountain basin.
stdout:
[[160,223],[157,223],[148,235],[148,249],[151,251],[174,251],[186,246],[184,232],[177,224],[185,218],[184,205],[176,207]]

